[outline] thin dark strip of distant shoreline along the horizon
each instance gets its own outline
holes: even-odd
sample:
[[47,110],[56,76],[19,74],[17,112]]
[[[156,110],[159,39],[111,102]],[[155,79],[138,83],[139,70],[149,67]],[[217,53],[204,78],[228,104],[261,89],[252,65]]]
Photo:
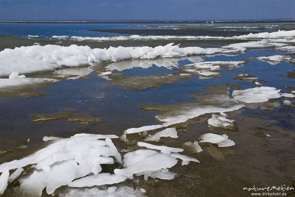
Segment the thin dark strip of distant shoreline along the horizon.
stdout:
[[0,21],[0,23],[21,24],[257,24],[257,23],[295,23],[288,20],[236,20],[236,21]]

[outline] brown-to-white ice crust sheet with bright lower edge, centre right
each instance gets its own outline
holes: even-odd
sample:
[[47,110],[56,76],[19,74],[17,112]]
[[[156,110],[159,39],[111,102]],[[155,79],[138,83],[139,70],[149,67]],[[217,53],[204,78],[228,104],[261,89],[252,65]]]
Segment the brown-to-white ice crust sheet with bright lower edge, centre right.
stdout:
[[147,110],[158,110],[156,119],[163,122],[163,126],[169,126],[178,123],[184,123],[189,119],[198,117],[207,113],[230,112],[244,107],[236,99],[229,98],[227,86],[208,87],[210,91],[190,95],[198,98],[195,102],[182,102],[173,105],[140,105],[140,108]]

